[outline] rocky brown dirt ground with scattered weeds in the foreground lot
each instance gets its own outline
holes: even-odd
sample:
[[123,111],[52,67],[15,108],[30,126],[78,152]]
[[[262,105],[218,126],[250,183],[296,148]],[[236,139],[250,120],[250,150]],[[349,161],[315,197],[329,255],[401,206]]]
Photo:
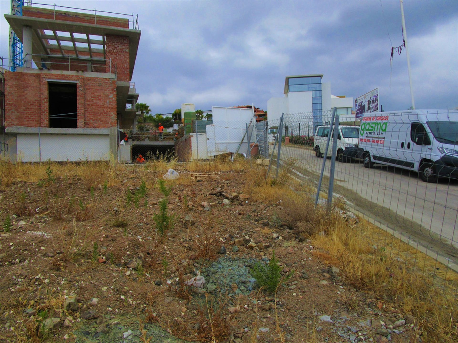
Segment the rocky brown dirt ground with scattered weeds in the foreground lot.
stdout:
[[[1,341],[427,342],[401,296],[355,289],[281,199],[257,200],[249,170],[196,182],[176,165],[161,236],[163,171],[78,168],[1,188]],[[273,252],[291,276],[268,294],[250,270]]]

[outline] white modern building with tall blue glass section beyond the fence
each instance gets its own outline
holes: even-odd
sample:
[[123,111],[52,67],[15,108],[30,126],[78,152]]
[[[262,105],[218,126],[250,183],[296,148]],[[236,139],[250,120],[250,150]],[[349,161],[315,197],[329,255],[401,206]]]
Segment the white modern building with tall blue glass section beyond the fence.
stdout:
[[282,113],[311,113],[315,127],[329,120],[334,107],[340,121],[354,121],[353,98],[332,95],[331,83],[322,82],[322,78],[323,74],[286,76],[284,96],[267,101],[269,124],[278,123]]

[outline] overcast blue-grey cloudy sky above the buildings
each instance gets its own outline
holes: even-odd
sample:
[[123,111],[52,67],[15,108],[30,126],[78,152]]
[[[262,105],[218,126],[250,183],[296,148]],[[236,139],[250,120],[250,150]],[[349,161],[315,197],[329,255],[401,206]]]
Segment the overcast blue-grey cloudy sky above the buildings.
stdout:
[[[283,96],[284,77],[302,74],[324,74],[334,95],[379,87],[386,111],[411,105],[405,52],[390,66],[388,33],[393,46],[402,43],[398,0],[55,2],[138,14],[132,81],[153,113],[183,102],[267,110],[269,98]],[[0,5],[0,55],[8,57],[10,1]],[[457,107],[457,0],[404,0],[404,12],[415,107]]]

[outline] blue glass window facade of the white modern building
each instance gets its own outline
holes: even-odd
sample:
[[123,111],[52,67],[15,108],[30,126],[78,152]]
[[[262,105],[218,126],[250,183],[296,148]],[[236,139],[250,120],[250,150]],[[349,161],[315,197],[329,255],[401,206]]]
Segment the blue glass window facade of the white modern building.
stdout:
[[313,127],[322,124],[321,76],[294,77],[288,79],[288,91],[312,92]]

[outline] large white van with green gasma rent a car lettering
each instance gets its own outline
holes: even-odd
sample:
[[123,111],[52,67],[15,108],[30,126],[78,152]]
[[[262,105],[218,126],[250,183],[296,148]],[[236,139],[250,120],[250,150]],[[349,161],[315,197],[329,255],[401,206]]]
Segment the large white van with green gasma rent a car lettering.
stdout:
[[458,178],[458,111],[409,110],[361,118],[359,156],[374,163],[418,171],[425,182]]

